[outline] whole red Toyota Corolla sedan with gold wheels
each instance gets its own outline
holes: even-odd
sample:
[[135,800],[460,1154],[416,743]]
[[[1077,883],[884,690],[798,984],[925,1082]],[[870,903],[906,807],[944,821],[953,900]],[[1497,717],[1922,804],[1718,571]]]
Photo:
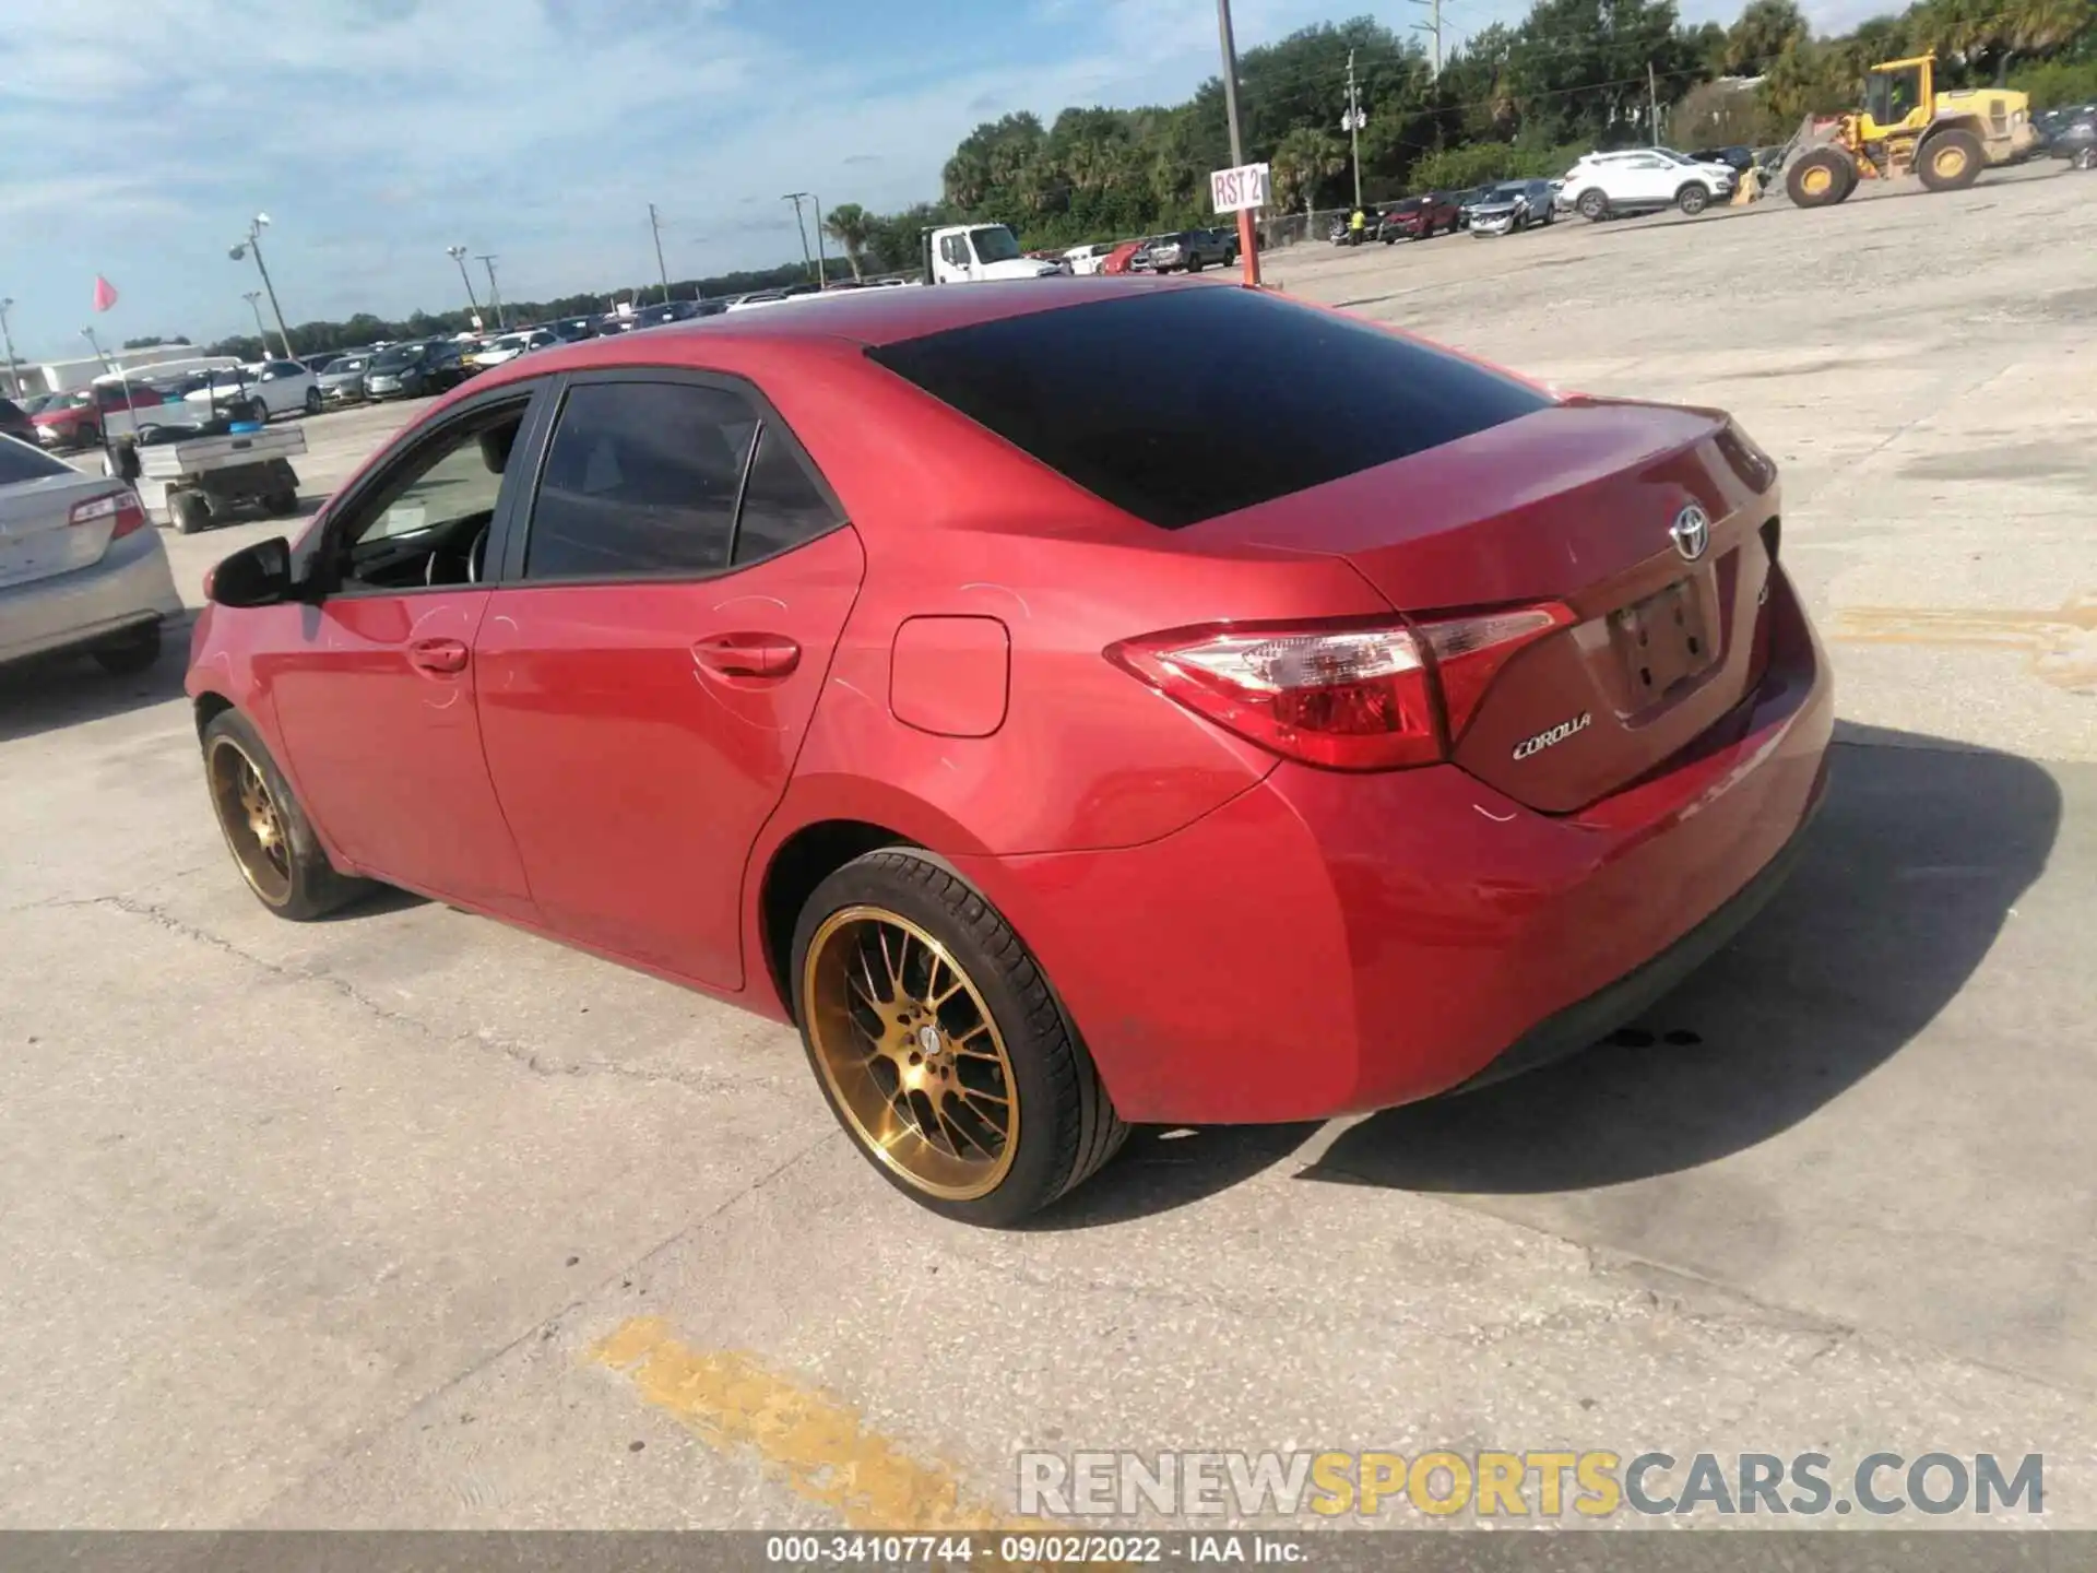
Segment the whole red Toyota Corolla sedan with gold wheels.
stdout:
[[216,568],[189,692],[271,910],[795,1021],[1009,1223],[1124,1122],[1493,1080],[1709,956],[1824,784],[1778,541],[1715,411],[1227,283],[864,289],[478,378]]

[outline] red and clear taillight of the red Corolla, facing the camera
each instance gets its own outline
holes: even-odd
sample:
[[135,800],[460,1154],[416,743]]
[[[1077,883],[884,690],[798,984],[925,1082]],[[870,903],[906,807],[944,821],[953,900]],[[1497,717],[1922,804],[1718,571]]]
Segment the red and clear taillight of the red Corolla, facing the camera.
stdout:
[[1552,604],[1424,621],[1214,623],[1105,654],[1288,759],[1405,770],[1445,759],[1508,659],[1571,621]]

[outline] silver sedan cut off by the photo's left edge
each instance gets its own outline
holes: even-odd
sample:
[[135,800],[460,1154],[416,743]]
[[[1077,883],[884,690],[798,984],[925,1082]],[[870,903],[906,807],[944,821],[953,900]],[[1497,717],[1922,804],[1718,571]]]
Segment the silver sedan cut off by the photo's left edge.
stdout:
[[145,671],[180,610],[130,487],[0,436],[0,663],[86,650],[109,671]]

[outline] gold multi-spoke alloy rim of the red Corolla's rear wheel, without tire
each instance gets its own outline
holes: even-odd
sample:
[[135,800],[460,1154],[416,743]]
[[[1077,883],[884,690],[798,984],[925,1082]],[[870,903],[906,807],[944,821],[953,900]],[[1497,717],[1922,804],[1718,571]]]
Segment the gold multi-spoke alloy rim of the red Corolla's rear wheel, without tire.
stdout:
[[946,946],[847,906],[807,942],[801,998],[822,1080],[874,1158],[946,1202],[998,1187],[1019,1149],[1013,1061]]

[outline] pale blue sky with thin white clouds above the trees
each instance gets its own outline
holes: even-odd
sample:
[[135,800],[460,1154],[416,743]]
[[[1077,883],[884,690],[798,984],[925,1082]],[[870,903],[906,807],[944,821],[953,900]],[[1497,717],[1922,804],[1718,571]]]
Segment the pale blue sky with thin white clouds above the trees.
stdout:
[[[1445,25],[1522,10],[1447,0]],[[1246,48],[1424,13],[1233,15]],[[294,325],[463,304],[449,243],[495,252],[516,300],[644,283],[650,201],[673,279],[763,266],[799,254],[782,191],[895,208],[981,120],[1214,71],[1214,0],[6,0],[0,296],[25,359],[82,352],[88,323],[247,329],[254,266],[226,247],[256,212]]]

